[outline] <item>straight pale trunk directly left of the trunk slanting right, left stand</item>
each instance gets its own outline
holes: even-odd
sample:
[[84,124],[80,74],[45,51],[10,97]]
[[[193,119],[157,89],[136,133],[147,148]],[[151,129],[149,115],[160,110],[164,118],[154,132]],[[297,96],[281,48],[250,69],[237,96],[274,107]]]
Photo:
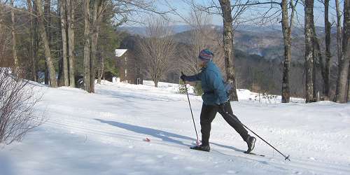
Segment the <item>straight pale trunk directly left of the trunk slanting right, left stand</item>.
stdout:
[[90,0],[84,0],[84,89],[90,90]]

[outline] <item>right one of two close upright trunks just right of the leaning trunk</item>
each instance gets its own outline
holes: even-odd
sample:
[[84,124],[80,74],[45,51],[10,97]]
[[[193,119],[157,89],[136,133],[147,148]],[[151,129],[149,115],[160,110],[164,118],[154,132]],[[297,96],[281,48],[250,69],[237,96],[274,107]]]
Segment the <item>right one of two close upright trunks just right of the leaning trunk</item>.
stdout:
[[75,69],[74,69],[74,0],[66,0],[68,6],[67,25],[68,25],[68,55],[69,55],[69,85],[76,87]]

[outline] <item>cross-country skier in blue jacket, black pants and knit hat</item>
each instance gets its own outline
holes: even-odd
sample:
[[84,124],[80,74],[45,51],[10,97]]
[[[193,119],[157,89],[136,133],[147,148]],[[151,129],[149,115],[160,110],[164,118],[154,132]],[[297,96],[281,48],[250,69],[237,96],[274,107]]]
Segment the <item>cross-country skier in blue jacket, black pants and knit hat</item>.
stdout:
[[210,151],[209,137],[211,130],[211,122],[214,120],[216,113],[220,113],[225,121],[233,127],[241,138],[246,141],[248,150],[246,153],[251,153],[255,146],[255,137],[251,137],[248,131],[244,128],[238,118],[233,114],[230,100],[228,98],[228,90],[225,88],[223,76],[218,66],[214,64],[213,52],[209,49],[200,51],[198,59],[200,66],[202,67],[200,73],[193,76],[181,75],[183,82],[186,81],[198,81],[202,83],[202,95],[203,104],[202,111],[200,113],[200,125],[202,132],[202,144],[190,147],[191,149],[200,151]]

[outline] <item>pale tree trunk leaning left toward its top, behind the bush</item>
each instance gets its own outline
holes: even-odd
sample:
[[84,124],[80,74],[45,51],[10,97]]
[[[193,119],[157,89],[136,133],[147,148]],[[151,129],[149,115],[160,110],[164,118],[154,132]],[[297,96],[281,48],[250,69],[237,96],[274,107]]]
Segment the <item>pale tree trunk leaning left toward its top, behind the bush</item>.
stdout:
[[45,50],[45,60],[46,60],[46,63],[48,64],[48,71],[50,74],[50,86],[57,87],[55,66],[52,63],[48,36],[46,34],[45,26],[43,23],[44,20],[43,20],[43,10],[41,9],[41,0],[35,0],[35,3],[38,10],[38,25],[41,30],[41,39],[43,40],[43,45]]

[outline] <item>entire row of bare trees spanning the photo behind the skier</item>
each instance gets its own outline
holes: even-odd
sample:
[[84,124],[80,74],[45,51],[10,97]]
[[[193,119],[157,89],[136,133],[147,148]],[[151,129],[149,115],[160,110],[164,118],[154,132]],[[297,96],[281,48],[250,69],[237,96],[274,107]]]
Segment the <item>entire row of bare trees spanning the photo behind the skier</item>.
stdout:
[[[230,1],[218,0],[209,3],[183,0],[192,7],[189,18],[184,18],[172,6],[169,11],[160,11],[152,1],[107,1],[107,0],[27,0],[0,1],[0,64],[12,66],[14,70],[25,69],[25,76],[38,81],[38,71],[45,72],[45,83],[51,87],[76,87],[80,78],[87,92],[94,92],[94,80],[100,82],[109,61],[113,59],[113,46],[118,46],[116,27],[127,21],[132,21],[132,12],[143,11],[157,14],[160,19],[148,20],[146,37],[140,42],[141,55],[146,57],[147,73],[155,82],[175,64],[172,57],[176,48],[174,38],[169,32],[167,14],[178,15],[190,25],[193,36],[186,49],[187,55],[179,57],[177,69],[190,73],[199,71],[197,52],[201,48],[215,50],[216,57],[223,57],[216,62],[225,69],[225,78],[232,85],[231,100],[238,100],[235,74],[235,27],[251,20],[246,18],[246,11],[266,7],[266,13],[253,18],[266,23],[279,19],[283,34],[283,78],[281,84],[282,102],[290,101],[290,62],[292,31],[297,16],[297,6],[304,7],[304,77],[306,102],[316,102],[318,92],[324,99],[330,99],[330,67],[331,60],[331,23],[329,20],[329,0],[319,0],[324,6],[325,43],[321,43],[316,34],[314,22],[314,0],[281,0],[281,1]],[[335,102],[347,102],[349,93],[349,0],[335,0],[337,27],[337,85]],[[81,8],[83,7],[83,8]],[[271,12],[274,11],[272,15]],[[211,15],[221,15],[223,31],[217,36],[207,25]],[[167,21],[167,22],[165,22]],[[105,38],[102,38],[105,37]],[[104,44],[99,44],[102,42]],[[209,41],[209,42],[204,42]],[[106,44],[108,42],[109,44]],[[109,46],[107,46],[109,45]],[[324,45],[324,46],[323,46]],[[323,50],[323,48],[325,48]],[[183,66],[185,65],[185,66]],[[322,89],[315,87],[318,67],[321,68]],[[58,72],[58,73],[57,73]],[[29,76],[30,75],[30,76]],[[58,75],[58,76],[56,76]]]

